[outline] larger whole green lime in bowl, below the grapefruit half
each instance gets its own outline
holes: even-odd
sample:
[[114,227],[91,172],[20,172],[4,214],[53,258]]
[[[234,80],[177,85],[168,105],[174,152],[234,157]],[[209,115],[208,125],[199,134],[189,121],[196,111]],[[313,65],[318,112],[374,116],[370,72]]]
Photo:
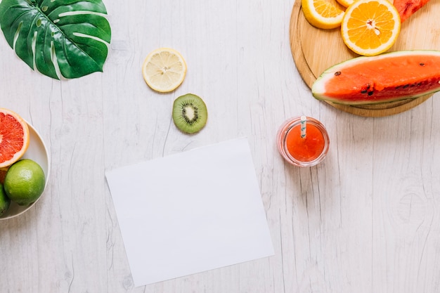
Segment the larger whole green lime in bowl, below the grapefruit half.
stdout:
[[44,190],[44,171],[32,159],[20,159],[6,172],[4,189],[6,195],[18,205],[27,205],[38,200]]

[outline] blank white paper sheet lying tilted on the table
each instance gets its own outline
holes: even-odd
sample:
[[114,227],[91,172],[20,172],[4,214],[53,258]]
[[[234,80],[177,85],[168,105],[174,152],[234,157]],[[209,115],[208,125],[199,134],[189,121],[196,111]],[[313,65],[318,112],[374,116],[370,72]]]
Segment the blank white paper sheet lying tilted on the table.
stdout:
[[274,254],[247,138],[105,176],[136,287]]

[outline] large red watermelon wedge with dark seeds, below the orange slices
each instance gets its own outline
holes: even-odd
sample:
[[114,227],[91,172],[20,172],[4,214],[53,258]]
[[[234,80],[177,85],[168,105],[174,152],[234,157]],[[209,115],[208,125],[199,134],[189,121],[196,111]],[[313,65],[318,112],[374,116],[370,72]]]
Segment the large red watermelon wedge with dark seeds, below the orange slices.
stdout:
[[325,70],[315,98],[345,105],[386,103],[440,91],[440,51],[395,51],[361,56]]

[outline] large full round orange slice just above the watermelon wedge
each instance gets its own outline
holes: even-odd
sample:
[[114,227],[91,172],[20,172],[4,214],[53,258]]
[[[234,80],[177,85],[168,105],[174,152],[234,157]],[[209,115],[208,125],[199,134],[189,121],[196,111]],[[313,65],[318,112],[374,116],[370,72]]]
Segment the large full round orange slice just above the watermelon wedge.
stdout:
[[375,56],[396,42],[400,26],[399,13],[388,0],[357,0],[342,18],[342,39],[355,53]]

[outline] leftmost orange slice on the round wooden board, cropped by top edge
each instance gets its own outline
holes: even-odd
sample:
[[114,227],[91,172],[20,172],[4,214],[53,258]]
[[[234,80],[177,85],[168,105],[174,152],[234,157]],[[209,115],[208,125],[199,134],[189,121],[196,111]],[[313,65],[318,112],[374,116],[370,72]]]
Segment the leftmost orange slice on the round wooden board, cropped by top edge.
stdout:
[[306,20],[320,29],[331,30],[339,27],[344,11],[326,0],[302,0],[302,11]]

